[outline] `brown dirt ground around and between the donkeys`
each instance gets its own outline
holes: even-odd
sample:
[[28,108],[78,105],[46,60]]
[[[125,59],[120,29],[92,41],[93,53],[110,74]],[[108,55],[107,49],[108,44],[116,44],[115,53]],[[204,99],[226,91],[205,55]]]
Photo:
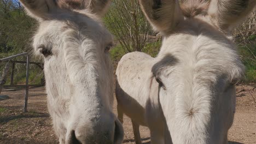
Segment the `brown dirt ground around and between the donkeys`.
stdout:
[[[9,95],[10,99],[0,101],[0,143],[58,143],[51,128],[44,87],[30,89],[28,113],[22,113],[24,92],[24,89],[20,89],[1,93]],[[255,99],[255,85],[237,86],[236,114],[229,131],[229,143],[256,143]],[[116,108],[114,111],[117,113]],[[124,143],[135,143],[128,117],[124,117],[124,130]],[[149,130],[141,127],[140,131],[143,143],[150,143]]]

